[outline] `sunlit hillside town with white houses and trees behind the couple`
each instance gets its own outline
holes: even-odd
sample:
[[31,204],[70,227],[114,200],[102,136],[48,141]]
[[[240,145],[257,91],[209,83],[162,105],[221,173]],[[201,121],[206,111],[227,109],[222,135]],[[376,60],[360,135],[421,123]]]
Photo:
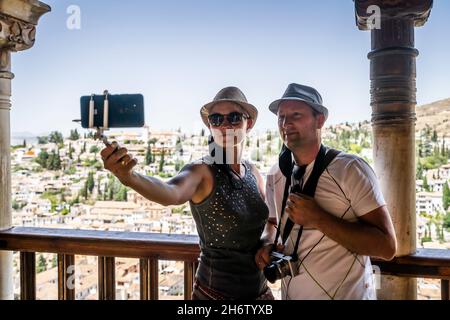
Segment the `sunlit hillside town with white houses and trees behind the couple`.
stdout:
[[[354,153],[372,164],[369,122],[340,124],[324,130],[324,144]],[[170,179],[186,164],[208,154],[208,134],[181,130],[111,132],[110,141],[125,146],[138,160],[142,174]],[[20,138],[19,138],[20,140]],[[17,142],[17,137],[16,137]],[[416,133],[417,243],[450,249],[450,136],[425,126]],[[277,131],[253,131],[244,158],[264,178],[277,162],[282,146]],[[164,207],[130,190],[103,168],[102,143],[91,132],[71,130],[23,139],[11,150],[13,225],[61,229],[196,234],[188,203]],[[97,299],[96,257],[77,256],[77,299]],[[37,298],[57,299],[56,255],[38,253]],[[15,292],[19,293],[19,260],[15,254]],[[160,299],[183,298],[183,263],[159,262]],[[139,299],[139,261],[116,260],[116,296]],[[439,282],[419,280],[419,297],[438,299]],[[275,294],[279,294],[277,287]]]

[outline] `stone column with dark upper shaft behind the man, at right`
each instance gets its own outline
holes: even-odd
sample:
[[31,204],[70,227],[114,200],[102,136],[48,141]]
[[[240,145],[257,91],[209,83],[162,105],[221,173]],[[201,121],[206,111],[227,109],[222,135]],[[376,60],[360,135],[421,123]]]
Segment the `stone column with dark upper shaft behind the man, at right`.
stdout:
[[[419,52],[414,48],[414,27],[425,24],[432,4],[432,0],[355,1],[358,27],[372,30],[372,51],[368,57],[373,155],[396,230],[397,256],[416,251],[415,107]],[[377,7],[369,7],[373,5]],[[416,299],[417,282],[383,276],[378,298]]]

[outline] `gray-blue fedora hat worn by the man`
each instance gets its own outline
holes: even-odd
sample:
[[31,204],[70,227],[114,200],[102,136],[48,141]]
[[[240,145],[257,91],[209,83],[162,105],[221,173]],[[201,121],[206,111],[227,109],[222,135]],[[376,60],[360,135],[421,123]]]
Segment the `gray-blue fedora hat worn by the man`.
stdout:
[[297,83],[291,83],[281,99],[275,100],[269,106],[269,110],[274,114],[278,114],[278,108],[283,101],[303,101],[311,108],[325,116],[325,120],[328,118],[328,109],[323,106],[322,96],[320,93],[308,86],[304,86]]

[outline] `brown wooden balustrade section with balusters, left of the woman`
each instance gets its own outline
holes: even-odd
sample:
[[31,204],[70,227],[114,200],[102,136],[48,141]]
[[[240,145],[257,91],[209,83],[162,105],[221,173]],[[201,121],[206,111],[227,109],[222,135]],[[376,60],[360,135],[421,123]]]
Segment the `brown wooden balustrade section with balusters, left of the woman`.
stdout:
[[36,252],[58,254],[59,300],[75,299],[69,283],[75,277],[75,255],[98,257],[100,300],[115,299],[115,258],[139,259],[142,300],[158,299],[158,260],[184,261],[184,294],[189,299],[200,253],[197,236],[23,227],[0,232],[0,250],[20,251],[24,300],[36,299]]

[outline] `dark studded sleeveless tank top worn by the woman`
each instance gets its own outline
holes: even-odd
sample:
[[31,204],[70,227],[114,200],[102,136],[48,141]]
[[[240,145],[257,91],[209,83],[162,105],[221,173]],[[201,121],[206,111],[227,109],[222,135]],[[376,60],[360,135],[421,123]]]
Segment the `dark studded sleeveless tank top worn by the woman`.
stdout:
[[244,162],[244,177],[231,175],[235,180],[208,165],[214,175],[213,190],[203,202],[190,202],[201,248],[197,281],[228,298],[256,298],[267,290],[254,256],[269,210],[248,162]]

